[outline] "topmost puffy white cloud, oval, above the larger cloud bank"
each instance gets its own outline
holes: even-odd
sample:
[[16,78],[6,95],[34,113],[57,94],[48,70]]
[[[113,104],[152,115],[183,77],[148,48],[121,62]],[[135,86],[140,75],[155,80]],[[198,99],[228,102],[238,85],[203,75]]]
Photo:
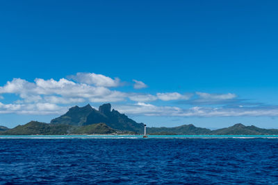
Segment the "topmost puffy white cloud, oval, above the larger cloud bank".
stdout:
[[95,85],[97,87],[119,87],[120,79],[112,79],[108,76],[104,76],[96,73],[76,73],[75,76],[70,76],[76,82],[85,83],[88,85]]

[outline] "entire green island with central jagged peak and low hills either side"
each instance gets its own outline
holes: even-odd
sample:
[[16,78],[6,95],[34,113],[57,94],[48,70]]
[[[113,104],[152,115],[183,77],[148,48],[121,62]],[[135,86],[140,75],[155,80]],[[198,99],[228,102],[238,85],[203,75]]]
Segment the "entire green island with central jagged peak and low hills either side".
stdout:
[[[31,121],[9,129],[0,126],[0,135],[65,135],[65,134],[143,134],[144,123],[137,123],[125,114],[112,109],[107,103],[99,110],[89,104],[72,107],[50,123]],[[278,135],[277,129],[263,129],[237,123],[218,130],[195,127],[193,124],[179,127],[147,127],[150,135]]]

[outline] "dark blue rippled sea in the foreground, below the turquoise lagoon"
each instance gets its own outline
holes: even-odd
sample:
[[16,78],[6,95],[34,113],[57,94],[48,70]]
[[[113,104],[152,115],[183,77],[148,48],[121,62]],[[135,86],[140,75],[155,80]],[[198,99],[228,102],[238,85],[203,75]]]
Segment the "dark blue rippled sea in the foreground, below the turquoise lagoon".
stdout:
[[0,139],[0,184],[278,184],[278,139]]

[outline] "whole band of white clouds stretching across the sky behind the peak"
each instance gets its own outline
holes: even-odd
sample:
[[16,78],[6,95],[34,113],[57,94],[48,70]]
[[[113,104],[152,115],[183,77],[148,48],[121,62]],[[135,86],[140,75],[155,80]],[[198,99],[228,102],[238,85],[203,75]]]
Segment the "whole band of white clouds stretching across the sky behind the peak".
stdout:
[[[147,87],[142,81],[133,82],[134,89]],[[249,103],[232,93],[149,94],[124,91],[124,84],[120,78],[96,73],[76,73],[59,80],[35,78],[33,82],[14,78],[0,87],[0,114],[63,114],[76,104],[109,102],[120,112],[144,116],[278,116],[277,106]],[[7,103],[6,94],[17,98]]]

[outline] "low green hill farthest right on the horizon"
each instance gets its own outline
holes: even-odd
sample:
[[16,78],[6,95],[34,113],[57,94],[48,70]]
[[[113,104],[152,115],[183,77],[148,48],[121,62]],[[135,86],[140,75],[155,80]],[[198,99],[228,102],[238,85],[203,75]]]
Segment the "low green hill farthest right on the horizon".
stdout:
[[231,127],[226,127],[218,130],[211,131],[214,135],[277,135],[277,129],[263,129],[259,127],[245,126],[238,123]]

